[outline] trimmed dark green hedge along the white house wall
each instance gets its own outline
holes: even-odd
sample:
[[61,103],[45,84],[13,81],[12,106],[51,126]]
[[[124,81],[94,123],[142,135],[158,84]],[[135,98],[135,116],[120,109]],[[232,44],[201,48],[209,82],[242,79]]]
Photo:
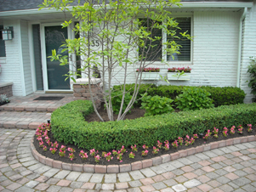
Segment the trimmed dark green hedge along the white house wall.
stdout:
[[[145,92],[152,97],[155,95],[159,95],[161,97],[167,97],[170,99],[176,99],[176,96],[182,93],[184,88],[188,86],[174,86],[174,85],[160,85],[156,87],[156,85],[151,84],[142,84],[139,89],[138,99],[140,94]],[[122,86],[114,86],[114,89],[120,89]],[[224,87],[224,88],[215,88],[209,86],[202,86],[201,88],[206,89],[209,93],[211,93],[210,98],[213,99],[213,104],[215,107],[221,105],[230,105],[230,104],[243,104],[243,99],[245,98],[245,93],[241,88],[234,87]],[[134,92],[134,84],[126,85],[126,90],[133,93]],[[137,103],[140,106],[141,101]]]

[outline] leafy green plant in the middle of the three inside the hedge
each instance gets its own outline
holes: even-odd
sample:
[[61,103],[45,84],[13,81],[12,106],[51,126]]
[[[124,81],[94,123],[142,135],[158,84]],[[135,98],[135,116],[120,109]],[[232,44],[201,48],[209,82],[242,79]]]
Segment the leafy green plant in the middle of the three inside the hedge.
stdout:
[[146,95],[142,98],[141,109],[145,109],[145,116],[161,115],[163,113],[171,113],[174,111],[172,107],[173,99],[160,97],[158,95],[151,97]]

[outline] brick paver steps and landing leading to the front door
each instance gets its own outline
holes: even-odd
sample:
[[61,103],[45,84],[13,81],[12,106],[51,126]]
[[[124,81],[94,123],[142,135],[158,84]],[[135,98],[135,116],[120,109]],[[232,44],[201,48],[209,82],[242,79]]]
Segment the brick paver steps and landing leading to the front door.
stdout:
[[[39,96],[63,96],[60,100],[34,100]],[[52,111],[74,100],[71,93],[33,93],[26,97],[11,97],[0,106],[0,127],[32,128],[50,119]]]

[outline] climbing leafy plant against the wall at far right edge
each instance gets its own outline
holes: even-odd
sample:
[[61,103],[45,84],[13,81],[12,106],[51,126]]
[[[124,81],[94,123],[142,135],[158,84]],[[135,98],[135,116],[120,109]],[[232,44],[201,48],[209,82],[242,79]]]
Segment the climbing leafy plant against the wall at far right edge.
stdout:
[[247,73],[250,73],[251,79],[249,80],[248,87],[252,88],[251,93],[254,95],[252,101],[256,102],[256,58],[251,57],[250,60]]

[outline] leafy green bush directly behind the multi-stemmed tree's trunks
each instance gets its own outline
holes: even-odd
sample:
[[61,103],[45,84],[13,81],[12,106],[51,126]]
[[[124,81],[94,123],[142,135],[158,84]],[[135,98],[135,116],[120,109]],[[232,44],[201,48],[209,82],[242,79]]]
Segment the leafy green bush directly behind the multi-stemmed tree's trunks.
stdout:
[[[123,100],[122,113],[126,109],[126,107],[129,104],[131,99],[132,99],[132,95],[130,93],[126,93],[124,96],[124,100]],[[122,104],[122,91],[113,90],[111,92],[111,103],[112,103],[113,112],[115,114],[118,114],[119,110],[120,110],[120,106]],[[131,109],[133,109],[133,108],[134,108],[134,106],[132,106]],[[131,112],[131,110],[129,110],[128,112]]]

